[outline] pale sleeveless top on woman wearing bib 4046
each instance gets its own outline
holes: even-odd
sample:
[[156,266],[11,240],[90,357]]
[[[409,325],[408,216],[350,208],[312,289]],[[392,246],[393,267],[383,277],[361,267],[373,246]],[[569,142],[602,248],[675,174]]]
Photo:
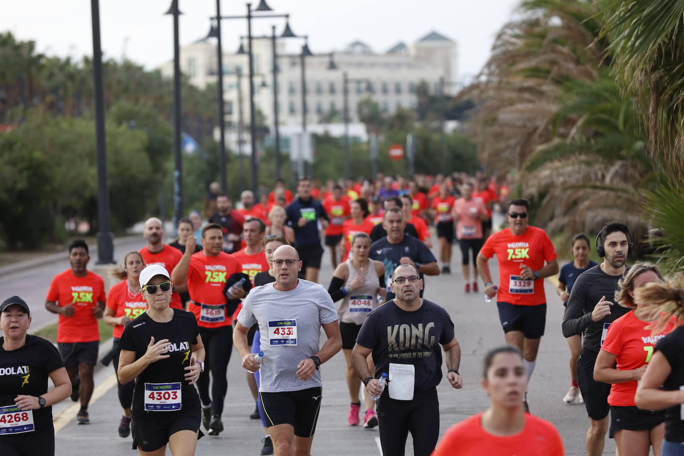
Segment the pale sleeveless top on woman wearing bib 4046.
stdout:
[[[337,315],[342,323],[362,325],[371,310],[378,307],[378,286],[380,286],[380,280],[378,280],[378,273],[373,266],[373,260],[369,259],[368,262],[368,269],[363,272],[363,275],[366,277],[366,284],[345,296],[337,310]],[[349,277],[345,285],[351,283],[360,273],[352,265],[351,258],[347,260],[347,269],[349,270]]]

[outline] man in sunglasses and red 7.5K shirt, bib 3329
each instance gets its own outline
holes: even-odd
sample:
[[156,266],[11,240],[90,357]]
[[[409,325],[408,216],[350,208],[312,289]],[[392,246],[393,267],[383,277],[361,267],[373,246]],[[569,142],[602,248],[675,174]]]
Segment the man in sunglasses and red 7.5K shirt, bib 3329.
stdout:
[[[488,237],[477,254],[477,271],[484,281],[488,299],[497,296],[499,320],[508,345],[523,351],[527,380],[534,372],[539,343],[547,321],[544,278],[558,273],[558,260],[549,235],[529,226],[529,201],[508,204],[509,228]],[[499,260],[499,286],[492,282],[488,260]],[[527,397],[525,397],[525,409]]]

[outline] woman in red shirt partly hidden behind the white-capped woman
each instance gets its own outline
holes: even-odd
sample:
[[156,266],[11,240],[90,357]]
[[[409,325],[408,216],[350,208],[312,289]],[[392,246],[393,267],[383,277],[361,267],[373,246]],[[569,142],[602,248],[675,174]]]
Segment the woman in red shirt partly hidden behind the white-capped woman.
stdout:
[[[114,360],[114,373],[119,368],[119,340],[124,332],[124,326],[129,321],[147,310],[147,301],[140,295],[140,271],[145,267],[140,252],[129,252],[124,257],[123,267],[118,267],[112,271],[111,276],[121,280],[118,284],[109,289],[107,294],[107,307],[103,319],[107,325],[114,326],[114,343],[111,351],[103,358],[102,363],[109,365],[110,360]],[[118,379],[118,377],[117,377]],[[133,387],[135,382],[118,386],[118,396],[124,414],[119,423],[119,435],[126,438],[131,433],[131,402],[133,401]]]

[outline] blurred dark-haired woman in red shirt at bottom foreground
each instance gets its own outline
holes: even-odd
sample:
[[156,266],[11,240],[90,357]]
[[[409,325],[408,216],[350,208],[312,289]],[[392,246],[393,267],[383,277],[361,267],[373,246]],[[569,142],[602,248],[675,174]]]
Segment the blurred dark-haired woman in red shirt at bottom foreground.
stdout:
[[508,345],[487,353],[482,377],[489,408],[449,428],[432,456],[564,455],[557,429],[523,409],[527,374],[519,349]]

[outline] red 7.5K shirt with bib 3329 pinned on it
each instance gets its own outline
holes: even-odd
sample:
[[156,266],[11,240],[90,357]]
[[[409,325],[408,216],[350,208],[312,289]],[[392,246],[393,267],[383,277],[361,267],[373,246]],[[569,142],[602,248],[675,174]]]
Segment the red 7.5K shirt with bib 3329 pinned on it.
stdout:
[[479,251],[489,259],[496,255],[499,260],[499,293],[497,301],[517,306],[538,306],[547,301],[544,294],[544,279],[522,280],[521,265],[532,271],[544,267],[557,257],[549,235],[536,226],[528,226],[521,236],[512,234],[510,228],[488,237]]

